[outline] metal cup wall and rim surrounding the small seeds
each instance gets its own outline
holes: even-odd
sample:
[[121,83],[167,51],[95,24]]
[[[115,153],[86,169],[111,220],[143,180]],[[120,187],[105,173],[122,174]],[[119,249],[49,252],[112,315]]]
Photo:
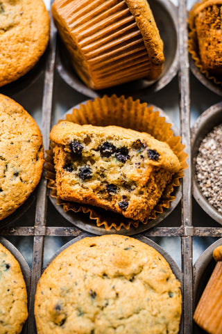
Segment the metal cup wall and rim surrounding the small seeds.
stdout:
[[193,193],[196,202],[202,207],[202,209],[209,214],[215,221],[222,225],[222,214],[213,207],[207,198],[203,196],[198,182],[195,177],[196,156],[198,154],[198,148],[203,138],[212,131],[212,129],[222,123],[222,102],[214,104],[196,120],[194,126],[191,129],[191,147],[192,147],[192,172],[193,172]]

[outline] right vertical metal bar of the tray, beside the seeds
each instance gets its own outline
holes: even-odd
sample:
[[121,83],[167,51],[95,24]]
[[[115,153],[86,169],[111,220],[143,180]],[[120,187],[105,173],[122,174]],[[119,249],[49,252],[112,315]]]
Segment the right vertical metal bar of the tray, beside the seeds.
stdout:
[[192,236],[189,233],[192,227],[191,201],[191,134],[190,134],[190,102],[189,102],[189,56],[187,49],[187,0],[179,0],[179,91],[180,91],[180,131],[182,143],[188,154],[188,169],[182,180],[182,227],[184,236],[181,237],[182,273],[183,273],[183,321],[184,333],[193,333],[193,254]]

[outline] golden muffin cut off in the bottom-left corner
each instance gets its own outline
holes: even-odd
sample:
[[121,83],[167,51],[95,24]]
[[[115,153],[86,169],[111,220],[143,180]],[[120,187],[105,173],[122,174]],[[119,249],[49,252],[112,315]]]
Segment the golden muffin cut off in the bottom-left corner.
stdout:
[[28,317],[26,283],[15,257],[0,244],[0,333],[19,334]]

